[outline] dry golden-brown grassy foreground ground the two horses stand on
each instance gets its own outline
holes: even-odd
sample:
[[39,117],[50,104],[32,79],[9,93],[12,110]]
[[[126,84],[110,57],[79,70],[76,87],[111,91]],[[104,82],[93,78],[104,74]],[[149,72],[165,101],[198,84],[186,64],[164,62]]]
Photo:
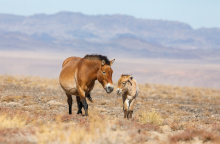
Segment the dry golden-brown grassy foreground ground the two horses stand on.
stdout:
[[57,79],[0,75],[0,143],[218,143],[220,90],[140,85],[131,120],[122,98],[92,92],[89,117],[68,114]]

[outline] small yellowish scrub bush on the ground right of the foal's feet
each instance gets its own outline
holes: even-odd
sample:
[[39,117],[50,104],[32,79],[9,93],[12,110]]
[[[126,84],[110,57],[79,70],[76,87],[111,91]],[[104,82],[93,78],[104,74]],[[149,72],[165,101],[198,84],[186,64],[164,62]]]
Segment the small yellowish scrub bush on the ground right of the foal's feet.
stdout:
[[152,111],[143,111],[139,114],[138,121],[143,124],[155,124],[161,125],[163,119],[159,113],[157,113],[154,109]]

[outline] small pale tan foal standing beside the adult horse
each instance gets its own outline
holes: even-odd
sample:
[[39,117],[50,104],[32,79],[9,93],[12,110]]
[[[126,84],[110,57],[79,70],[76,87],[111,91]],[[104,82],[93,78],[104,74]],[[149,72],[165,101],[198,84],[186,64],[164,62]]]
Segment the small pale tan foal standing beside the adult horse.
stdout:
[[118,80],[117,94],[122,94],[124,118],[132,118],[139,87],[132,75],[122,74]]

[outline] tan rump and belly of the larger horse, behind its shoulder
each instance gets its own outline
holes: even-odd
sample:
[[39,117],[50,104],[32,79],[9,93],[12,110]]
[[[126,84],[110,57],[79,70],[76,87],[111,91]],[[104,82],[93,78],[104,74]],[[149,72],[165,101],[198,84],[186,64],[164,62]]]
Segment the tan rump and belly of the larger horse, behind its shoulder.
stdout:
[[62,70],[60,72],[60,85],[67,93],[74,94],[77,90],[75,74],[80,57],[69,57],[64,60]]

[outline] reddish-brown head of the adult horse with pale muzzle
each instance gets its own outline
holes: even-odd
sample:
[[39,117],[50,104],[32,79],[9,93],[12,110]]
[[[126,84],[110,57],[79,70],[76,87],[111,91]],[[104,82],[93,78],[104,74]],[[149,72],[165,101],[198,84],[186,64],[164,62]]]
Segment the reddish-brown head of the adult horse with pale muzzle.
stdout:
[[107,93],[111,93],[114,90],[114,85],[112,82],[113,70],[111,65],[114,63],[115,59],[106,64],[105,60],[101,61],[101,67],[97,73],[97,79],[102,84],[103,88]]

